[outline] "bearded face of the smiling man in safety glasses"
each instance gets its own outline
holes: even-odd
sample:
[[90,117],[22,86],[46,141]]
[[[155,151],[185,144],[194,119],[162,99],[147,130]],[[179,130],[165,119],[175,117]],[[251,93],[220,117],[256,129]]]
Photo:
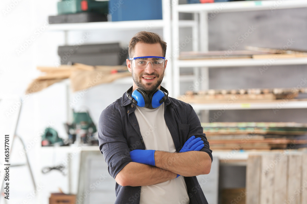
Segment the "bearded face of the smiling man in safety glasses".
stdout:
[[[132,57],[145,57],[145,56],[157,56],[163,57],[162,47],[157,44],[136,43],[134,47],[134,54]],[[132,65],[129,59],[127,59],[127,67],[132,72],[133,78],[133,90],[140,88],[143,91],[151,92],[156,88],[160,88],[160,84],[163,80],[164,71],[166,68],[167,60],[162,68],[153,69],[150,63],[147,64],[145,69],[139,69]]]

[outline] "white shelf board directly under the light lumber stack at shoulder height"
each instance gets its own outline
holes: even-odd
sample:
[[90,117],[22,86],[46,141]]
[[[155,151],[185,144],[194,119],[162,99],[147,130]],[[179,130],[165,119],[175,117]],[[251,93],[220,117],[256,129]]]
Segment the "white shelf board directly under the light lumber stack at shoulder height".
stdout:
[[191,103],[195,110],[240,110],[240,109],[293,109],[307,108],[307,100],[278,100],[274,102]]

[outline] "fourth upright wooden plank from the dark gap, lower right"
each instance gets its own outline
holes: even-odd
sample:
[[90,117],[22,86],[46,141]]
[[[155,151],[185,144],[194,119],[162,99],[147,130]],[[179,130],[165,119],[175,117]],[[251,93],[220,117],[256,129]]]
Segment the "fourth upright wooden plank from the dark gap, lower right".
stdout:
[[302,155],[289,155],[289,173],[288,173],[288,197],[287,202],[291,204],[301,204],[300,194],[298,193],[301,187],[301,167]]

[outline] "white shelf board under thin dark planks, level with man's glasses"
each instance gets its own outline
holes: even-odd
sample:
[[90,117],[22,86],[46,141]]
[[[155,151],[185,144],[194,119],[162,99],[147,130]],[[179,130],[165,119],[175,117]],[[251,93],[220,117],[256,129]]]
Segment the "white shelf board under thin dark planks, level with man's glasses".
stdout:
[[[306,1],[307,2],[307,1]],[[304,65],[307,57],[291,59],[212,59],[212,60],[179,60],[179,67],[242,67],[242,66],[264,66],[267,65]]]

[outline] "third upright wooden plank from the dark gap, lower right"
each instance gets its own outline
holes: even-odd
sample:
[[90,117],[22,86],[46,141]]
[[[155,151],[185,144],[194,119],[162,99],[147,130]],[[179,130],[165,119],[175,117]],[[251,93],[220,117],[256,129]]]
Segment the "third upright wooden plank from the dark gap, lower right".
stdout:
[[276,154],[273,161],[275,165],[274,177],[274,204],[284,203],[287,198],[287,167],[288,157],[286,154]]

